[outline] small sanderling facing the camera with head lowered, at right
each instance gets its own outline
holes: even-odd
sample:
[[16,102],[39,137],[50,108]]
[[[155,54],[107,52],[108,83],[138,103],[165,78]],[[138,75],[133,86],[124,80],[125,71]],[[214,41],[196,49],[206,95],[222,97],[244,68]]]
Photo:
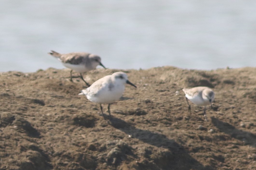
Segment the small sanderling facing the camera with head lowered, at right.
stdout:
[[[206,110],[206,105],[209,105],[214,100],[214,92],[212,89],[204,86],[194,87],[191,89],[182,89],[185,93],[186,101],[190,100],[192,103],[198,106],[205,106],[204,115]],[[212,107],[212,105],[211,105]],[[190,112],[190,105],[188,103],[188,111]],[[205,120],[207,121],[206,115]]]

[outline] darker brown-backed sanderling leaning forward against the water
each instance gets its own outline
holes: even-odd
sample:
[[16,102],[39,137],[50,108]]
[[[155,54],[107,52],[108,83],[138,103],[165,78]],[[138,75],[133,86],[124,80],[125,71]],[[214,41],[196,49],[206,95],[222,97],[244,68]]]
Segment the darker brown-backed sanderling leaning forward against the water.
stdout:
[[101,64],[101,58],[95,54],[83,52],[60,54],[52,50],[48,54],[58,58],[65,67],[71,69],[70,81],[72,81],[72,71],[75,70],[80,73],[81,79],[87,84],[87,86],[90,85],[83,79],[82,73],[93,70],[98,65],[104,67]]

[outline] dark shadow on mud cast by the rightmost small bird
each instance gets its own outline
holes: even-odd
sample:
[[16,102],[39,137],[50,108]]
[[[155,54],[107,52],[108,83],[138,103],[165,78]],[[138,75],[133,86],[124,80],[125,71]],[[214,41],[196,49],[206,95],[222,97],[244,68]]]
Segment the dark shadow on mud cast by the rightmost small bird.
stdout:
[[230,135],[232,138],[235,138],[235,139],[238,139],[238,140],[244,142],[244,144],[249,144],[252,147],[256,147],[256,135],[255,134],[253,134],[251,132],[236,129],[234,126],[230,125],[229,123],[222,122],[221,120],[216,119],[215,117],[211,117],[211,122],[221,132],[224,132],[224,133]]

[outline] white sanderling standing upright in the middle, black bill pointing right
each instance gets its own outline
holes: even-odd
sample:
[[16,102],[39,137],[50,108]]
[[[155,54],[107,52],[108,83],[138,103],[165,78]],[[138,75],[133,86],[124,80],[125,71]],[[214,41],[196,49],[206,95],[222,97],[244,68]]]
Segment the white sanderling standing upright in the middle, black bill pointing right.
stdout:
[[79,93],[79,95],[86,95],[88,100],[94,103],[99,103],[100,110],[104,119],[105,116],[103,114],[101,104],[109,104],[108,112],[109,119],[111,119],[109,110],[110,104],[121,98],[125,89],[125,84],[130,84],[136,87],[128,80],[128,77],[124,72],[115,72],[112,75],[107,75],[95,81],[87,89],[81,90],[81,93]]

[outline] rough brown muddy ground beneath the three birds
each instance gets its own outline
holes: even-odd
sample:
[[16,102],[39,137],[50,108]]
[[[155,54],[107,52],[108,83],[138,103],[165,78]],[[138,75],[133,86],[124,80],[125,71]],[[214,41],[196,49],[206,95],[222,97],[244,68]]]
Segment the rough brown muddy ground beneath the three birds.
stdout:
[[[256,68],[123,71],[137,89],[126,85],[111,121],[68,69],[1,73],[0,169],[256,169]],[[208,122],[188,113],[182,88],[195,86],[216,93]]]

